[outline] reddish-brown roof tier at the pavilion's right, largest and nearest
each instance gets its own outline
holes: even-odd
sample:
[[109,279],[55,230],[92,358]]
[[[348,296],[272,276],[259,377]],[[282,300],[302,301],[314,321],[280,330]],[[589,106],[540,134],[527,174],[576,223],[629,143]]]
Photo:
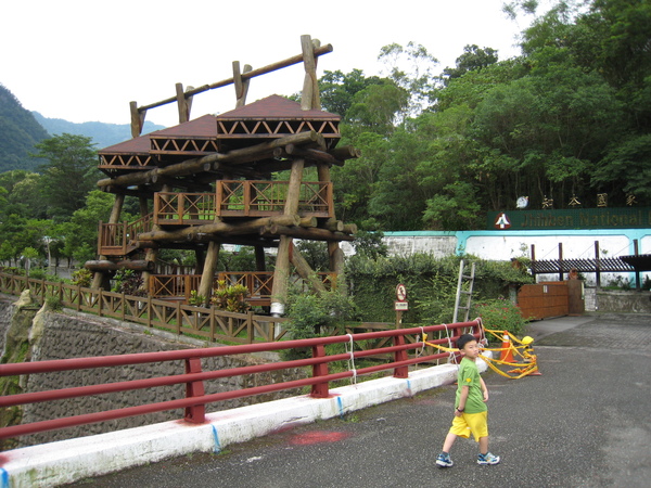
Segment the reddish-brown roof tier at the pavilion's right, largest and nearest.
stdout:
[[335,114],[323,111],[303,111],[301,104],[284,97],[272,94],[248,105],[240,106],[233,111],[217,115],[217,119],[244,120],[247,118],[315,120],[340,120]]

